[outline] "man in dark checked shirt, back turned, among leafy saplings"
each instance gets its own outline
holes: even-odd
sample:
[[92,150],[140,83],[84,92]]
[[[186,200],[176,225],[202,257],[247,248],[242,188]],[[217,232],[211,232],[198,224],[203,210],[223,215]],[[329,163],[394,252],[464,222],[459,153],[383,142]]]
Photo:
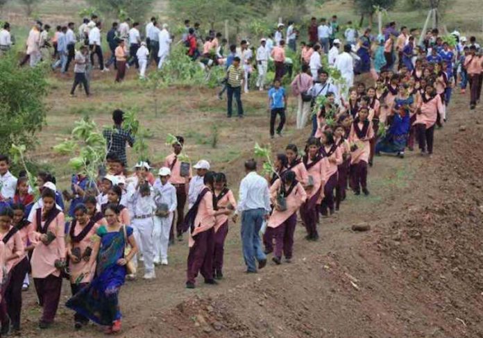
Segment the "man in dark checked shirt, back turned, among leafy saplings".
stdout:
[[126,167],[128,164],[126,142],[129,146],[133,146],[134,137],[131,135],[130,130],[122,128],[122,121],[124,121],[124,112],[122,110],[117,109],[112,112],[112,121],[114,121],[114,127],[103,131],[103,136],[108,145],[108,155],[117,156],[124,163],[124,167]]

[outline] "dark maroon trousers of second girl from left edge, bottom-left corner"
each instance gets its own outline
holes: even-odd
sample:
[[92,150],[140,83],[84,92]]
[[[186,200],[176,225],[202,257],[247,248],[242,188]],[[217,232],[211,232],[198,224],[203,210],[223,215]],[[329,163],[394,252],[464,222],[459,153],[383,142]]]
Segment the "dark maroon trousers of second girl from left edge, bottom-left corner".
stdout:
[[10,281],[4,295],[7,303],[7,312],[10,316],[12,324],[19,325],[20,312],[22,311],[22,286],[24,285],[24,278],[30,269],[28,258],[25,257],[10,271]]

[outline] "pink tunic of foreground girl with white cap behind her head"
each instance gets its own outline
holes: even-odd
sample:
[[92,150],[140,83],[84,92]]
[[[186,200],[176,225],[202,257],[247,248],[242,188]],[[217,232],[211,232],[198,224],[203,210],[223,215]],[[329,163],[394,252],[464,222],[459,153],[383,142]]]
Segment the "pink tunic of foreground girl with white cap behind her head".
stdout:
[[[43,212],[43,210],[42,210]],[[42,221],[42,226],[44,226]],[[32,226],[34,231],[29,234],[29,239],[35,248],[33,249],[31,265],[33,278],[46,278],[49,275],[60,276],[60,271],[54,267],[56,260],[65,259],[65,217],[59,212],[49,224],[48,231],[56,235],[56,239],[48,246],[40,242],[41,233],[37,232],[37,217],[33,217]]]

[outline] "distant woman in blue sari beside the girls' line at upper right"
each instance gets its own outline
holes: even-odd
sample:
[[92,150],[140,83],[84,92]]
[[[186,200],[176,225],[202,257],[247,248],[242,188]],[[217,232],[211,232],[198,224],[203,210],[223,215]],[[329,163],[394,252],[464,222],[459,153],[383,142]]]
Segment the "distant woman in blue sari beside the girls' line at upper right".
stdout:
[[396,153],[400,158],[404,158],[412,112],[414,112],[414,98],[411,93],[408,93],[407,85],[400,85],[392,114],[388,117],[389,129],[386,135],[376,144],[376,154]]

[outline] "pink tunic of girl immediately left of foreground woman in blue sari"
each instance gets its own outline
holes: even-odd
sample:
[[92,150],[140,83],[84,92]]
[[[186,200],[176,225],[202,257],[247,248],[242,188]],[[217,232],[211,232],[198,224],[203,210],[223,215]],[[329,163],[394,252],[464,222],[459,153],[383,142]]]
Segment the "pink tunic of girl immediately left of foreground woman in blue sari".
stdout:
[[[86,224],[87,226],[87,224]],[[99,238],[96,236],[96,231],[97,229],[99,229],[101,225],[99,223],[95,223],[94,226],[92,227],[92,229],[89,231],[89,233],[87,233],[87,235],[85,235],[85,237],[78,243],[76,242],[71,242],[71,250],[73,248],[80,248],[80,255],[83,255],[85,253],[85,249],[87,247],[90,247],[90,248],[93,248],[94,247],[94,242],[96,240],[99,240]],[[83,228],[81,228],[78,224],[76,225],[76,227],[74,228],[74,236],[77,236],[79,235],[79,233],[83,230]],[[87,267],[87,265],[89,264],[89,262],[85,261],[83,258],[80,259],[80,262],[78,263],[74,263],[74,261],[70,260],[69,262],[69,270],[70,270],[70,273],[71,273],[71,276],[70,276],[70,281],[71,283],[74,283],[76,282],[77,278],[80,276],[80,273],[82,273],[85,269],[85,267]],[[85,276],[80,282],[81,283],[88,283],[92,280],[92,278],[94,277],[94,273],[96,271],[96,263],[94,262],[94,264],[92,264],[92,269],[90,271],[90,273]]]

